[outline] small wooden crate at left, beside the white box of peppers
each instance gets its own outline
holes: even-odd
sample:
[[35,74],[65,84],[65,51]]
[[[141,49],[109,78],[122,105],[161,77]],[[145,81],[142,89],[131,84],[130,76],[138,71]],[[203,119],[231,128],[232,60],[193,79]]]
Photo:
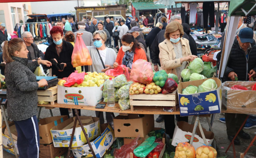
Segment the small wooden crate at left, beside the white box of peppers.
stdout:
[[57,87],[53,86],[47,90],[38,90],[38,101],[51,102],[51,105],[54,105],[54,101],[57,100]]

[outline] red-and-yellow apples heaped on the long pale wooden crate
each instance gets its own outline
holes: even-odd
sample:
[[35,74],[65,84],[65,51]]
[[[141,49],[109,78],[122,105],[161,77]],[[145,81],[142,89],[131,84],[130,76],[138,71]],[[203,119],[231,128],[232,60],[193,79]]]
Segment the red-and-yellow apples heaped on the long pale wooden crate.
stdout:
[[146,86],[143,83],[133,82],[130,86],[129,94],[158,94],[161,90],[161,87],[155,85],[154,82],[146,84]]

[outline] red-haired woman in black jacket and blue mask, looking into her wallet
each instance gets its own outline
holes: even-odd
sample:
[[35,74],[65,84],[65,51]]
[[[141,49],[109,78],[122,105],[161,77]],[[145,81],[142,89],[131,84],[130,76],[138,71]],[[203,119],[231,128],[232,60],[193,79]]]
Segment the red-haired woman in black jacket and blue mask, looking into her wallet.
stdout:
[[[63,70],[58,70],[56,66],[52,66],[52,75],[56,75],[58,78],[68,77],[72,72],[75,71],[71,64],[71,56],[73,52],[73,45],[70,42],[63,40],[63,30],[55,26],[50,31],[51,36],[53,37],[53,43],[46,49],[44,59],[45,60],[55,60],[59,64],[64,64]],[[49,69],[48,68],[48,69]],[[69,112],[67,108],[59,108],[60,115],[68,115]],[[75,112],[73,111],[73,116]],[[80,115],[79,110],[79,115]]]

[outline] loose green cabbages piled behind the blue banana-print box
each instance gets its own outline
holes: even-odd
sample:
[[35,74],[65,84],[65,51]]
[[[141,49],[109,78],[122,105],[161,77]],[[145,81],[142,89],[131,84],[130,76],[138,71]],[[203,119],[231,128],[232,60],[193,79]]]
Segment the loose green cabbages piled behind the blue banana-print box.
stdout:
[[181,77],[183,82],[202,80],[213,77],[216,71],[217,67],[213,67],[211,62],[203,62],[201,58],[195,58],[187,69],[181,71]]

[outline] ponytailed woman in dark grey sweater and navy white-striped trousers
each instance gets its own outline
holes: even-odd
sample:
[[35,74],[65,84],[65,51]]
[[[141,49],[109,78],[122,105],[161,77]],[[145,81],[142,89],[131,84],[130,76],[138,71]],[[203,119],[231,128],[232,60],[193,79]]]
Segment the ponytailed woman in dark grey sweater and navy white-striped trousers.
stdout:
[[39,64],[51,66],[52,63],[47,60],[28,63],[28,50],[20,38],[4,41],[3,59],[6,62],[7,112],[17,129],[19,157],[38,157],[37,89],[47,85],[47,81],[42,79],[37,82],[30,69],[35,69]]

